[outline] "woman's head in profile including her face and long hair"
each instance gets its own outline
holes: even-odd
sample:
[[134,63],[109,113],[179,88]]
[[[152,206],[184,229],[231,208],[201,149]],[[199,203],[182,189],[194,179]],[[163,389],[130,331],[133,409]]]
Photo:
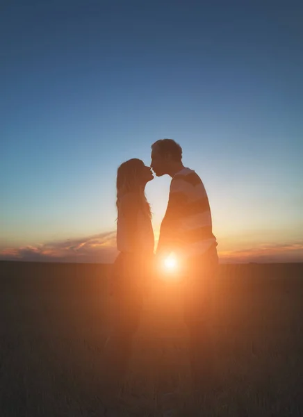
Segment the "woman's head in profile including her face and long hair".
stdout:
[[145,197],[146,184],[154,179],[151,168],[137,158],[129,159],[118,167],[117,170],[117,206],[120,198],[126,193],[137,193],[139,201],[147,207],[150,215],[149,204]]

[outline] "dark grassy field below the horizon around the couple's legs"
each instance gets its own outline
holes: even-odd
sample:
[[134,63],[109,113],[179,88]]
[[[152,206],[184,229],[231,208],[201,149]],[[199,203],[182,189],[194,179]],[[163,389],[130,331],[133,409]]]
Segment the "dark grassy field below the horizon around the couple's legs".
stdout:
[[[2,417],[102,416],[108,265],[0,263]],[[303,415],[303,264],[221,265],[215,284],[216,389],[191,407],[177,285],[147,300],[124,387],[130,415]],[[302,395],[303,396],[303,395]],[[184,411],[186,410],[186,411]],[[168,415],[168,414],[167,414]]]

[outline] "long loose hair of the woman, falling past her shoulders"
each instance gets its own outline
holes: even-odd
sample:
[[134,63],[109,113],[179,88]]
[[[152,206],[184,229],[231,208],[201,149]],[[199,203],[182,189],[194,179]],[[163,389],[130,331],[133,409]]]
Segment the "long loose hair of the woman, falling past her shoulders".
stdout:
[[142,183],[142,169],[144,163],[137,158],[129,159],[117,169],[117,201],[119,208],[120,199],[126,193],[136,193],[142,211],[151,218],[151,208],[145,196],[145,184]]

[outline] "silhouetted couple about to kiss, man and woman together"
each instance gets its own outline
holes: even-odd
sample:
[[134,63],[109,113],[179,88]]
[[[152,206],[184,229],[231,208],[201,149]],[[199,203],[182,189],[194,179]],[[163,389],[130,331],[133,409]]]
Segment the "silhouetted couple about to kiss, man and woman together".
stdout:
[[[154,176],[172,177],[167,210],[161,224],[156,256],[151,209],[145,186]],[[190,367],[195,395],[203,395],[211,377],[208,334],[211,283],[218,269],[217,243],[204,185],[195,171],[184,167],[182,149],[172,139],[151,145],[151,168],[130,159],[117,170],[117,256],[112,294],[117,302],[113,329],[106,341],[108,392],[126,374],[131,342],[140,324],[145,295],[155,262],[171,252],[183,259],[184,320],[190,335]],[[156,261],[155,261],[156,260]]]

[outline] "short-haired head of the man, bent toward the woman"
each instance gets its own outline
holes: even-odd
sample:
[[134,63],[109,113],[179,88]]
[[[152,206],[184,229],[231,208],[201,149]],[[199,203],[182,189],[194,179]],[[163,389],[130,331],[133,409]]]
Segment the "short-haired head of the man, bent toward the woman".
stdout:
[[159,139],[151,145],[151,168],[157,177],[172,174],[182,166],[182,148],[173,139]]

